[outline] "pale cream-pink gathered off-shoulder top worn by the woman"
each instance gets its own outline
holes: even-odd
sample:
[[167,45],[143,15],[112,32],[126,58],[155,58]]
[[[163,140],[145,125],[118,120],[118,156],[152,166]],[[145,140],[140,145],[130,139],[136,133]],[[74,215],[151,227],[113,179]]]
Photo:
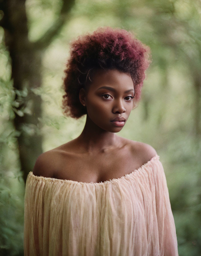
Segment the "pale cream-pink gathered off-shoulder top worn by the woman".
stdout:
[[158,155],[130,174],[101,183],[30,172],[24,224],[25,255],[178,255]]

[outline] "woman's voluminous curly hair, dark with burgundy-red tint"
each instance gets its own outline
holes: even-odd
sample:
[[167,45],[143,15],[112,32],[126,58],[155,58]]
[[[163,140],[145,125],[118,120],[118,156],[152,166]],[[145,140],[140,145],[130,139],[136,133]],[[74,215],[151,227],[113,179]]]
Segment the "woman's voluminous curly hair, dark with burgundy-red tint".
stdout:
[[90,83],[89,74],[97,69],[117,69],[130,74],[134,84],[135,103],[139,101],[150,49],[123,29],[102,27],[80,36],[71,43],[71,55],[64,77],[63,109],[73,118],[86,114],[79,101],[79,91]]

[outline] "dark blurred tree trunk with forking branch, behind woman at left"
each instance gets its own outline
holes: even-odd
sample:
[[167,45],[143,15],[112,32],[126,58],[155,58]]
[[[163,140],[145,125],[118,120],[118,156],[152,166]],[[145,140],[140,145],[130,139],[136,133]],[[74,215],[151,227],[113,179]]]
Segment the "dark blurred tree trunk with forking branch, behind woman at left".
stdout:
[[5,32],[5,44],[11,56],[13,87],[16,92],[13,107],[19,158],[24,181],[32,171],[37,157],[42,153],[42,136],[39,132],[41,97],[32,89],[41,86],[41,57],[66,20],[75,0],[65,0],[53,25],[35,43],[28,39],[26,0],[3,0],[0,7],[4,16],[0,22]]

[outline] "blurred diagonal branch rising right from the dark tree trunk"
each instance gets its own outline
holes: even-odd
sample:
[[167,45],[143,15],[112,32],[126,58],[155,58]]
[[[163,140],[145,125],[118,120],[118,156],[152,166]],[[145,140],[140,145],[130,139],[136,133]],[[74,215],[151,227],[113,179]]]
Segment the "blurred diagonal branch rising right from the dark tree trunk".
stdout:
[[53,40],[53,38],[59,34],[63,25],[65,24],[69,12],[73,7],[75,0],[63,0],[63,6],[61,8],[58,19],[54,24],[39,38],[35,43],[33,43],[36,49],[46,48]]

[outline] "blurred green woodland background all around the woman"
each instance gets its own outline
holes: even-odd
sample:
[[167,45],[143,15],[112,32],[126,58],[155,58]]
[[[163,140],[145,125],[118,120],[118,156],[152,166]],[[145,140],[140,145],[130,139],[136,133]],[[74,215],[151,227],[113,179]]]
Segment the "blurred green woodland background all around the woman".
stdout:
[[85,124],[62,114],[69,43],[100,26],[151,48],[142,99],[122,137],[164,166],[180,256],[201,251],[200,0],[0,0],[0,255],[23,255],[25,181],[37,156]]

